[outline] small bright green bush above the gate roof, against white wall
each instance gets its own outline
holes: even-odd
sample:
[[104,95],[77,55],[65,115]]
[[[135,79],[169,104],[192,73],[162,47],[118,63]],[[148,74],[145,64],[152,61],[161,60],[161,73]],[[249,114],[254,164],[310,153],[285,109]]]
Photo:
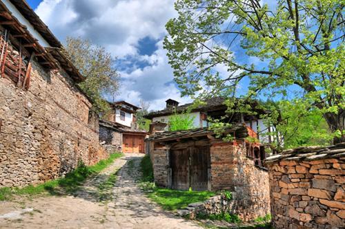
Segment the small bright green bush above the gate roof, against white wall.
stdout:
[[169,131],[183,131],[188,129],[193,129],[193,122],[195,116],[190,115],[190,113],[174,113],[169,117],[168,129]]

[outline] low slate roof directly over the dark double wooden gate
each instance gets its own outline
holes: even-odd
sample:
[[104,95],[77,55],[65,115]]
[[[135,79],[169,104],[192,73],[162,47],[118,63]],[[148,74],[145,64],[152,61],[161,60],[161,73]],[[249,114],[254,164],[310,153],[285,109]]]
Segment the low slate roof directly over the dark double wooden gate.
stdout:
[[[236,124],[233,127],[227,128],[224,130],[224,133],[235,133],[235,137],[237,135],[241,135],[241,138],[245,138],[248,135],[248,130],[244,124]],[[240,134],[242,133],[242,134]],[[168,140],[176,140],[182,138],[195,138],[204,135],[214,135],[215,131],[208,129],[207,127],[198,128],[198,129],[191,129],[186,131],[164,131],[160,133],[155,133],[150,135],[148,140],[152,142],[162,142]]]

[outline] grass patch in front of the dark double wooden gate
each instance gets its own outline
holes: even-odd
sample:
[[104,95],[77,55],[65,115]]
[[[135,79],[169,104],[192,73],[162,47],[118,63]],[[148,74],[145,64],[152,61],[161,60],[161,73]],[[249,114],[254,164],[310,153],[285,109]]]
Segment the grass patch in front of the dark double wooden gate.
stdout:
[[168,188],[158,188],[153,183],[153,169],[150,157],[145,155],[140,163],[141,188],[146,190],[148,197],[165,210],[186,208],[188,204],[206,201],[215,193],[209,191],[181,191]]

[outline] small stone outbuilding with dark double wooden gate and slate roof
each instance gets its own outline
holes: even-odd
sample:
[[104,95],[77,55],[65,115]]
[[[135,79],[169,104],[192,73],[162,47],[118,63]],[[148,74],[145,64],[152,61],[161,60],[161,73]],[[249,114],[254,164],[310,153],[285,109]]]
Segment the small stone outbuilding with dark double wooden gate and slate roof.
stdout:
[[150,135],[155,184],[177,190],[229,190],[237,203],[233,210],[242,219],[268,214],[268,173],[261,166],[264,152],[254,153],[258,144],[246,141],[245,125],[223,133],[234,140],[224,142],[207,128]]

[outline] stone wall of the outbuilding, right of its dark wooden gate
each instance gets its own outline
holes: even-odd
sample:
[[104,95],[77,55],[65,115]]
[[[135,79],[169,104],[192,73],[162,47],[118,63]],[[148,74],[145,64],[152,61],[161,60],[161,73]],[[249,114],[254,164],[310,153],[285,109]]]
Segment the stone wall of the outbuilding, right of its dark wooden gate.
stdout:
[[230,209],[248,221],[270,212],[268,173],[246,157],[241,144],[213,144],[210,148],[212,190],[230,190],[234,200],[222,208]]

